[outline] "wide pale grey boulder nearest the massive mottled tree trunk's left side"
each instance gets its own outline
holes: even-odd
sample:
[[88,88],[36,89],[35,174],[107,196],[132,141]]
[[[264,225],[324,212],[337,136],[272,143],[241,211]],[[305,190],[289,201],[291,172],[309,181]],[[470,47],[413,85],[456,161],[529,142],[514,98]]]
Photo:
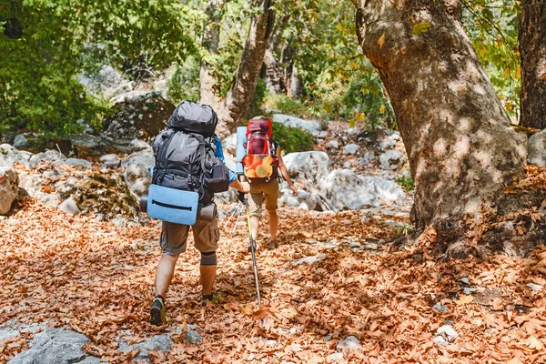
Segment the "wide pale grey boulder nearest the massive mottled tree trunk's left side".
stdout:
[[394,202],[405,197],[396,182],[382,177],[361,177],[351,169],[331,172],[322,182],[321,189],[337,210],[379,207],[382,200]]

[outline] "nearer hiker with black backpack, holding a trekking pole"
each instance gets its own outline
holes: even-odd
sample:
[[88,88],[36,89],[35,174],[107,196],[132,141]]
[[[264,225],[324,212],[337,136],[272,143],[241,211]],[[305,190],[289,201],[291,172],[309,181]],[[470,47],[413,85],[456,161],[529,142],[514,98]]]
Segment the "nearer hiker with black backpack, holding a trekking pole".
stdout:
[[[216,126],[217,115],[212,107],[198,106],[184,101],[177,106],[169,118],[167,129],[157,136],[154,142],[156,165],[152,184],[167,187],[168,191],[180,189],[194,194],[197,192],[201,210],[213,209],[210,220],[194,217],[195,225],[191,226],[195,247],[201,253],[199,270],[200,282],[203,286],[202,306],[206,306],[208,301],[212,301],[212,288],[217,274],[216,250],[220,231],[217,227],[216,205],[214,204],[215,188],[218,188],[216,192],[219,192],[227,190],[228,185],[243,193],[249,191],[248,183],[239,182],[235,173],[225,167],[222,144],[214,135]],[[215,158],[221,162],[215,164]],[[224,175],[222,169],[228,172],[228,181],[222,181],[222,179],[227,179],[227,174],[222,178]],[[215,177],[217,171],[219,172]],[[206,183],[203,183],[204,180]],[[224,182],[223,187],[215,185],[217,183],[221,185]],[[167,200],[167,202],[169,203],[159,203],[159,206],[171,207],[171,204],[175,204],[174,200]],[[148,204],[148,211],[149,208]],[[169,215],[174,216],[174,214],[186,212],[176,210],[177,207],[174,208],[173,213]],[[167,216],[166,219],[169,217],[172,216]],[[167,323],[165,305],[167,288],[173,278],[180,253],[186,251],[189,230],[189,225],[163,221],[159,238],[163,255],[157,264],[156,296],[150,308],[150,323],[153,325],[160,326]]]

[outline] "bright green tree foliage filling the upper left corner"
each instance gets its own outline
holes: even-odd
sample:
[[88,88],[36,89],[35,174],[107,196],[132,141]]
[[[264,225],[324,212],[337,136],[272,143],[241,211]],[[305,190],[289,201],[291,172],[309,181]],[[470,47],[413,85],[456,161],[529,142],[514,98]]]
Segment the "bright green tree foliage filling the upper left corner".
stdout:
[[78,118],[96,125],[105,104],[86,95],[76,76],[105,61],[138,69],[182,62],[196,53],[188,31],[197,18],[175,0],[0,5],[0,21],[10,19],[0,34],[1,130],[27,127],[63,135],[79,129]]

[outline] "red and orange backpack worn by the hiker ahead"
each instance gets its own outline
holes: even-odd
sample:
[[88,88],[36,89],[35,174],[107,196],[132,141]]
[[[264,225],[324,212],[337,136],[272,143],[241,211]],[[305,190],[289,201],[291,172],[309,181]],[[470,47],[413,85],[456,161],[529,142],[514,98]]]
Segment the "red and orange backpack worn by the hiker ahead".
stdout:
[[250,182],[269,181],[278,177],[278,144],[272,138],[273,126],[268,119],[248,120],[247,154],[243,157],[245,176]]

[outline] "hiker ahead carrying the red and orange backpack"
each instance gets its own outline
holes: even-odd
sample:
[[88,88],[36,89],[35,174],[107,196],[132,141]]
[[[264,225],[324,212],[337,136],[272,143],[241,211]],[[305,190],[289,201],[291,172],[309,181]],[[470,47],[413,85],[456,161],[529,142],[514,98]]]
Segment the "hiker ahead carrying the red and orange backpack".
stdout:
[[[252,236],[255,238],[258,237],[259,220],[262,217],[262,204],[265,200],[266,211],[268,211],[269,217],[269,250],[278,247],[278,171],[280,171],[282,177],[288,182],[288,187],[292,190],[292,194],[298,196],[298,188],[294,186],[288,175],[288,169],[280,153],[280,146],[273,140],[272,131],[271,120],[261,116],[250,119],[247,126],[247,155],[243,158],[245,176],[250,183],[248,207],[250,210]],[[257,159],[261,159],[261,165]]]

